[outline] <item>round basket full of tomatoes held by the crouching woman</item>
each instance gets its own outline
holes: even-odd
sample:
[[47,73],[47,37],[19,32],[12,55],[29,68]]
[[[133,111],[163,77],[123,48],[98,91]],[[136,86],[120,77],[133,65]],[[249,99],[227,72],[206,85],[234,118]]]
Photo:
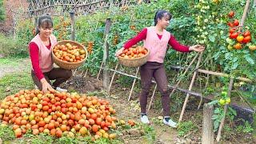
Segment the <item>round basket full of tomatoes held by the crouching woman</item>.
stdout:
[[64,40],[52,49],[54,63],[66,70],[74,70],[86,61],[87,50],[78,42]]

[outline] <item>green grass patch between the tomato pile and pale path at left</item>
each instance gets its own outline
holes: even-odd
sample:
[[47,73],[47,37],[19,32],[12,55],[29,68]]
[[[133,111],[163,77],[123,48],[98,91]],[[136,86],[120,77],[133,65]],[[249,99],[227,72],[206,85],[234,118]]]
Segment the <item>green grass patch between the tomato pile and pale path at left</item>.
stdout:
[[[19,90],[33,89],[34,82],[29,72],[17,72],[6,74],[0,78],[0,99],[6,98],[7,95],[15,94]],[[9,89],[9,91],[7,91]]]

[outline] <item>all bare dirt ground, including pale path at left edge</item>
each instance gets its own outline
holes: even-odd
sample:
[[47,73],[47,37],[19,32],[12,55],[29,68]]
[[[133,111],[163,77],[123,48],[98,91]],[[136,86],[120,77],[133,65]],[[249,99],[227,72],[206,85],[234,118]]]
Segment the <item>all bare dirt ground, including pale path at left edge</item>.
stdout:
[[[18,61],[17,66],[10,65],[1,65],[0,69],[0,78],[5,74],[11,74],[13,72],[24,72],[30,70],[30,59],[26,58],[22,61]],[[26,65],[24,65],[26,63]],[[15,67],[15,68],[14,68]],[[92,94],[100,98],[106,98],[110,101],[110,104],[114,106],[114,109],[117,111],[117,117],[120,119],[134,119],[136,122],[139,122],[140,106],[138,102],[138,92],[134,92],[130,101],[128,101],[128,95],[130,94],[130,87],[121,86],[118,83],[114,83],[111,87],[110,94],[106,93],[106,90],[103,90],[103,84],[101,80],[96,79],[90,74],[86,75],[86,78],[80,74],[75,74],[68,82],[62,85],[63,88],[68,89],[70,92],[76,91],[81,94]],[[139,91],[139,90],[138,90]],[[157,95],[157,98],[159,95]],[[184,97],[181,95],[182,102]],[[148,98],[150,101],[150,98]],[[156,140],[154,143],[159,144],[168,144],[168,143],[201,143],[202,137],[202,109],[197,110],[198,99],[190,97],[190,101],[187,104],[186,112],[183,117],[183,122],[191,121],[194,123],[196,128],[190,130],[183,137],[178,136],[179,131],[177,129],[170,128],[168,126],[162,125],[162,121],[158,119],[158,116],[161,116],[161,106],[156,108],[158,105],[159,99],[154,99],[154,104],[152,109],[150,109],[148,115],[150,118],[151,125],[154,127]],[[149,103],[149,102],[148,102]],[[171,100],[171,104],[175,104],[175,100]],[[178,110],[174,110],[171,114],[171,118],[174,121],[178,121],[181,108],[178,107]],[[230,122],[226,122],[230,123]],[[230,127],[234,127],[234,124],[230,124]],[[255,143],[256,140],[253,138],[252,134],[241,134],[233,129],[230,132],[223,130],[224,141],[221,143]],[[216,134],[215,134],[216,135]],[[142,134],[134,130],[122,131],[122,140],[125,143],[148,143],[142,137]]]

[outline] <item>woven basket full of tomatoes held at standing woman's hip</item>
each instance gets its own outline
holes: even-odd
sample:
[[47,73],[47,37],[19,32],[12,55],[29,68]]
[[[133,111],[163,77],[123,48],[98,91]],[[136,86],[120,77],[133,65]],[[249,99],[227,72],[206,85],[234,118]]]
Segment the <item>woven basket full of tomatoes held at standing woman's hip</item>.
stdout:
[[118,61],[127,67],[142,66],[146,63],[149,53],[150,51],[143,46],[132,46],[118,55]]

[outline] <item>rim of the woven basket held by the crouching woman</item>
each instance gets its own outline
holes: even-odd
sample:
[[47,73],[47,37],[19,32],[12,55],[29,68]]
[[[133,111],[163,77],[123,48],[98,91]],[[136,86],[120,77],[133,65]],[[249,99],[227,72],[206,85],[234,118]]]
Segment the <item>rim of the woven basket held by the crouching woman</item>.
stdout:
[[[81,46],[81,47],[83,48],[83,50],[86,51],[86,57],[83,58],[82,61],[80,61],[80,62],[65,62],[65,61],[60,60],[60,59],[57,58],[57,57],[55,56],[55,54],[54,54],[54,47],[57,46],[60,42],[66,42],[66,43],[67,43],[67,42],[73,42],[73,43],[75,43],[75,44]],[[58,41],[58,42],[53,46],[53,48],[51,49],[51,54],[53,55],[53,57],[54,57],[55,60],[57,60],[57,61],[59,61],[59,62],[63,62],[63,63],[65,63],[65,64],[81,64],[81,63],[85,62],[86,59],[87,59],[87,57],[88,57],[88,52],[87,52],[87,50],[86,50],[86,47],[85,47],[85,46],[82,46],[82,44],[80,44],[79,42],[75,42],[75,41],[72,41],[72,40],[62,40],[62,41]]]

